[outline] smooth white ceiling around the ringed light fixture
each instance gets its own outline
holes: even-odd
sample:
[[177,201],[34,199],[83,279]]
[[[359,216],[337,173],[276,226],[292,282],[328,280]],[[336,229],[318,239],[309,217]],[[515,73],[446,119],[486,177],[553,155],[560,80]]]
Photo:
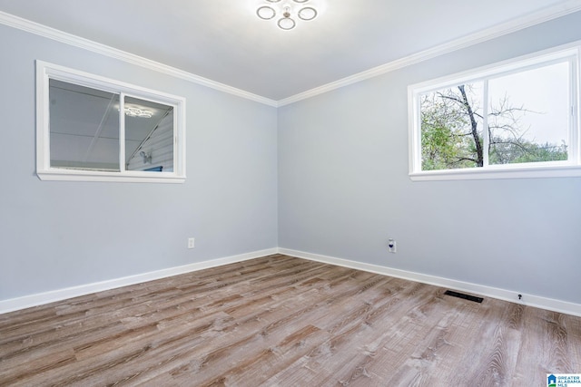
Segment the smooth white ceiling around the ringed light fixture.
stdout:
[[[282,0],[292,3],[292,0]],[[0,0],[0,12],[271,101],[483,34],[581,10],[581,0],[309,0],[282,31],[264,0]]]

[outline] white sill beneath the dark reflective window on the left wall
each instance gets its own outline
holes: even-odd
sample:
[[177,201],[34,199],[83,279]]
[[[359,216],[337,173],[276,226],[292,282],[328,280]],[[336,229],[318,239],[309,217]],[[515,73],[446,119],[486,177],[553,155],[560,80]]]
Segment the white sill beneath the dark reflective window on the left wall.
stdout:
[[[38,178],[48,181],[117,181],[132,183],[180,184],[185,176],[166,172],[99,172],[86,170],[48,169],[36,172]],[[154,176],[152,176],[152,174]]]

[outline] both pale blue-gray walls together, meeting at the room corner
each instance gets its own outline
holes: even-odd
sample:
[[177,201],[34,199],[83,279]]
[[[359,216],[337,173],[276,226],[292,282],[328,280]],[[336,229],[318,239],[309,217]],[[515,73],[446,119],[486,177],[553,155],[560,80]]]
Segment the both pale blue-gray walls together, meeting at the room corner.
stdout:
[[[579,40],[578,25],[568,15],[278,111],[0,25],[0,300],[278,246],[581,303],[581,179],[412,182],[407,121],[410,83]],[[184,96],[187,181],[37,179],[35,59]]]

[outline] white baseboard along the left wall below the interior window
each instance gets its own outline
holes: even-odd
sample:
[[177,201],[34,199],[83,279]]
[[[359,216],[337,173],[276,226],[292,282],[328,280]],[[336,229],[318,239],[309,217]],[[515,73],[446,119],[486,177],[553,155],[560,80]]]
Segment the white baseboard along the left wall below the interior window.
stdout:
[[211,259],[203,262],[196,262],[184,266],[170,267],[167,269],[157,270],[150,273],[143,273],[135,276],[125,276],[122,278],[115,278],[107,281],[96,282],[94,284],[67,287],[64,289],[57,289],[50,292],[44,292],[35,295],[25,295],[22,297],[11,298],[8,300],[0,301],[0,314],[25,309],[31,306],[49,304],[55,301],[61,301],[79,295],[90,295],[95,292],[111,290],[117,287],[141,284],[143,282],[153,281],[155,279],[165,278],[168,276],[178,276],[181,274],[191,273],[194,271],[203,270],[215,266],[228,265],[236,262],[246,261],[253,258],[258,258],[261,256],[270,256],[271,254],[277,253],[278,248],[271,248],[241,254],[238,256],[226,256],[223,258]]

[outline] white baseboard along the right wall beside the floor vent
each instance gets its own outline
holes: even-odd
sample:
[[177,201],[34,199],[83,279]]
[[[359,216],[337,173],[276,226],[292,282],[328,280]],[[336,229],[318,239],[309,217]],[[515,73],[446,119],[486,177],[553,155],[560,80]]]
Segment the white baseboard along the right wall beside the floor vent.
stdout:
[[472,293],[475,295],[497,298],[499,300],[509,301],[516,304],[533,306],[541,309],[547,309],[554,312],[572,314],[581,316],[581,305],[559,301],[552,298],[541,297],[538,295],[521,294],[522,299],[518,299],[518,294],[512,290],[499,289],[486,285],[471,284],[468,282],[457,281],[439,276],[428,276],[425,274],[399,270],[386,266],[371,265],[349,259],[336,258],[332,256],[321,256],[319,254],[306,253],[304,251],[291,250],[288,248],[279,248],[279,253],[287,256],[296,256],[299,258],[310,259],[312,261],[322,262],[330,265],[350,267],[353,269],[368,271],[383,276],[395,276],[398,278],[409,279],[410,281],[421,282],[428,285],[437,285],[462,292]]

